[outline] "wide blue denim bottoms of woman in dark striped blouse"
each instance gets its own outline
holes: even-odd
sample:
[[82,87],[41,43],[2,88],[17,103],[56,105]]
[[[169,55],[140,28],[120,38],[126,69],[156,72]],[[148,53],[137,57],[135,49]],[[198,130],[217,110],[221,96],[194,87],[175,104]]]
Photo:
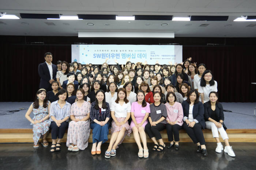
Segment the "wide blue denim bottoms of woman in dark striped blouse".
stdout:
[[101,142],[104,143],[108,141],[109,134],[109,123],[101,126],[97,123],[91,123],[91,129],[93,129],[93,143]]

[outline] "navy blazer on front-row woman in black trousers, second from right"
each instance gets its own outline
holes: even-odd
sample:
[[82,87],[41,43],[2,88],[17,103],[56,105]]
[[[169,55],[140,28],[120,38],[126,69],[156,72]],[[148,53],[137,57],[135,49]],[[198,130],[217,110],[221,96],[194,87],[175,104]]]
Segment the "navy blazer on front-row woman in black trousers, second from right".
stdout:
[[[183,108],[183,116],[187,116],[189,114],[189,103],[185,100],[182,102],[182,108]],[[203,129],[206,127],[205,121],[204,121],[204,106],[202,102],[198,102],[194,104],[193,106],[193,118],[196,119],[203,127]]]

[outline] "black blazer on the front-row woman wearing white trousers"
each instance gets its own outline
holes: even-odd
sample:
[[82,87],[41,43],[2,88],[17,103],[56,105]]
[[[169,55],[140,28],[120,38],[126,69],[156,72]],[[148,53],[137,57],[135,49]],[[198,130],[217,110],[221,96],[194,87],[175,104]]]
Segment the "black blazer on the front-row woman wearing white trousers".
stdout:
[[[218,120],[223,120],[224,121],[224,113],[223,113],[223,107],[221,103],[216,103],[216,115]],[[204,119],[206,121],[209,121],[208,119],[211,117],[211,102],[208,101],[204,103]],[[222,124],[223,128],[226,130],[227,127],[225,126],[224,122]]]

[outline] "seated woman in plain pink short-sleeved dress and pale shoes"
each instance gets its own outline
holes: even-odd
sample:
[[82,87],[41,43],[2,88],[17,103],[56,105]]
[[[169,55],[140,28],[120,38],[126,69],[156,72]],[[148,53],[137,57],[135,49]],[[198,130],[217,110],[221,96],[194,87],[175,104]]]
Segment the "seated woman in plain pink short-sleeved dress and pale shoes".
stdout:
[[[131,129],[133,131],[133,137],[139,147],[138,156],[140,158],[148,157],[147,138],[145,133],[145,126],[148,123],[148,115],[150,113],[149,103],[145,100],[145,94],[142,90],[137,92],[137,101],[132,103],[131,108]],[[143,143],[143,148],[140,143],[140,138]],[[144,151],[144,153],[143,153]]]

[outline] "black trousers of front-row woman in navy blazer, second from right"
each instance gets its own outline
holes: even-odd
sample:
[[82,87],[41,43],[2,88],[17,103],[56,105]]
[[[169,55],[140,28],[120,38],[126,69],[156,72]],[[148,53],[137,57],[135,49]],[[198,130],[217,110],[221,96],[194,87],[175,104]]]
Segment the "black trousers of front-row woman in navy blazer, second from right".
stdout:
[[196,123],[194,127],[188,127],[187,123],[183,123],[183,128],[192,139],[194,143],[200,143],[200,145],[205,145],[204,134],[202,132],[202,125]]

